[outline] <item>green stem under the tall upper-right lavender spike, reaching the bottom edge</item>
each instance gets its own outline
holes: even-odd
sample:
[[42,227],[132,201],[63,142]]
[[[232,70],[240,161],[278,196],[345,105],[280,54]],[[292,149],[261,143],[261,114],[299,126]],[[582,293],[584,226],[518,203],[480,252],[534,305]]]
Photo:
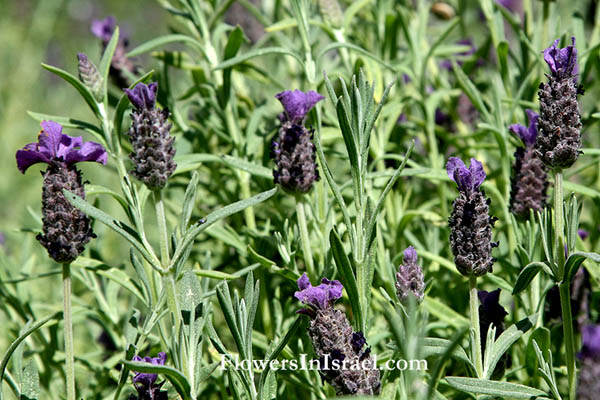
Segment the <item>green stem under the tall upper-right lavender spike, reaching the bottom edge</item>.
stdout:
[[575,338],[573,335],[573,316],[571,314],[570,282],[565,281],[565,257],[564,257],[564,215],[563,215],[563,175],[558,170],[554,173],[554,229],[556,232],[556,260],[558,262],[558,277],[562,281],[559,284],[560,308],[563,320],[563,335],[565,340],[565,352],[567,356],[567,373],[569,376],[569,399],[575,400]]

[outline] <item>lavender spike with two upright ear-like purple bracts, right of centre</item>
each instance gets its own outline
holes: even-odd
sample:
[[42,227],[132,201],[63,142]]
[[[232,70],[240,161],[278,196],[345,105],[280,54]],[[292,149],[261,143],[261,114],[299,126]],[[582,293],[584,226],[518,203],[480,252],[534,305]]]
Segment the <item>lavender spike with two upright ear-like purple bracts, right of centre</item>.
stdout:
[[489,215],[490,200],[479,188],[485,179],[485,171],[474,158],[467,168],[456,157],[448,160],[446,171],[459,190],[448,220],[454,263],[465,276],[484,275],[492,271],[495,261],[492,248],[498,246],[497,242],[492,242],[492,227],[496,219]]

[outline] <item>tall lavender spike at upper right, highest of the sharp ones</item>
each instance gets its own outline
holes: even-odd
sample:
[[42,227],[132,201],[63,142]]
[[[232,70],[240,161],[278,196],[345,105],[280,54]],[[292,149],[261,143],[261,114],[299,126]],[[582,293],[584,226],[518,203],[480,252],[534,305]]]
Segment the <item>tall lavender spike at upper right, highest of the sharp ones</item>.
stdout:
[[539,135],[535,143],[538,157],[549,168],[562,170],[577,161],[581,153],[581,114],[577,96],[577,49],[572,45],[559,49],[558,39],[544,50],[550,67],[547,83],[541,83]]

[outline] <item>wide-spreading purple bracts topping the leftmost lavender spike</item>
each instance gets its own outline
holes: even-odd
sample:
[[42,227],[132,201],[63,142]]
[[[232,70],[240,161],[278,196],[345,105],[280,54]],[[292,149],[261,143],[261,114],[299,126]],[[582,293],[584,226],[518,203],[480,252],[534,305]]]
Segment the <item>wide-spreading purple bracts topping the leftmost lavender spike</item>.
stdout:
[[40,162],[51,165],[62,161],[72,165],[83,161],[106,164],[106,150],[101,144],[83,142],[81,136],[72,137],[62,133],[62,126],[54,121],[42,121],[37,143],[29,143],[17,151],[17,167],[25,173],[27,168]]

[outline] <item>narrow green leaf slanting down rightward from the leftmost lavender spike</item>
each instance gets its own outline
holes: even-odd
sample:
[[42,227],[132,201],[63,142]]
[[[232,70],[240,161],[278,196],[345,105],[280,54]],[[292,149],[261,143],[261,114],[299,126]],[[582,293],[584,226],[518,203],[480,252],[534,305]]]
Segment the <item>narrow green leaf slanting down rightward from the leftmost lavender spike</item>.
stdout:
[[144,257],[144,259],[146,259],[146,261],[148,261],[151,265],[155,267],[160,265],[160,262],[158,261],[156,256],[148,252],[148,250],[146,250],[146,247],[142,243],[142,240],[138,233],[129,225],[114,219],[104,211],[92,206],[90,203],[83,200],[81,197],[69,192],[66,189],[63,190],[63,194],[72,205],[83,211],[86,215],[92,218],[96,218],[98,221],[102,222],[104,225],[108,226],[110,229],[123,236],[123,238],[125,238],[129,243],[131,243],[131,245],[135,247],[135,249],[140,252],[142,257]]

